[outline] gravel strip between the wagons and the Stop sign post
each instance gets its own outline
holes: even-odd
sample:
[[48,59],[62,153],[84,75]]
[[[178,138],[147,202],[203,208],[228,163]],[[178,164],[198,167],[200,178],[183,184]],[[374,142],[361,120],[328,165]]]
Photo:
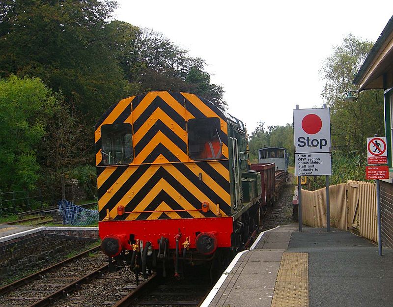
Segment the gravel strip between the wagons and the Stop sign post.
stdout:
[[268,230],[278,225],[293,223],[293,191],[295,185],[293,174],[289,174],[289,181],[284,187],[280,198],[269,208],[266,217],[262,221],[262,230]]

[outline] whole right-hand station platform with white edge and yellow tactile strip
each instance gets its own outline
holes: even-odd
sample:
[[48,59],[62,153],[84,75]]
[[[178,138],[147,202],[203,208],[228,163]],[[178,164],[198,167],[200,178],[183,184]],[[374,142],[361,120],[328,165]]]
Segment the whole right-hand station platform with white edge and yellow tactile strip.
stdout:
[[284,225],[238,254],[201,307],[393,306],[393,250],[350,232]]

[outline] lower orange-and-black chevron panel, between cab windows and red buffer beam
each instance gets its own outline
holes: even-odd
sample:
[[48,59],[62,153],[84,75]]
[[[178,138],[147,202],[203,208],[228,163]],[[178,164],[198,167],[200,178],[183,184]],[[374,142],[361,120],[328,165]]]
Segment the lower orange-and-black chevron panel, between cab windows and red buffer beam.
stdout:
[[[204,218],[216,216],[217,210],[222,216],[231,215],[228,161],[183,164],[162,159],[164,164],[103,171],[98,177],[100,221],[107,209],[114,220]],[[210,211],[196,211],[204,201]],[[126,214],[117,216],[118,205]]]

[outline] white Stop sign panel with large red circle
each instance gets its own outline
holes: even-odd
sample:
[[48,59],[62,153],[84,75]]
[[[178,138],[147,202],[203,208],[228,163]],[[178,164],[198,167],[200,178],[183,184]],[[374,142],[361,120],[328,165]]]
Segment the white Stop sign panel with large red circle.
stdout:
[[293,110],[295,153],[330,152],[330,109]]

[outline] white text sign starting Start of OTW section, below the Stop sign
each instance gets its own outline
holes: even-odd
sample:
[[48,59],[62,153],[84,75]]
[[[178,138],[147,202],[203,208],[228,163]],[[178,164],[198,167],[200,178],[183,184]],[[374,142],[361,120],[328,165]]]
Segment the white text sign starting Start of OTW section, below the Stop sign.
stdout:
[[332,174],[330,152],[295,154],[295,176],[320,176]]

